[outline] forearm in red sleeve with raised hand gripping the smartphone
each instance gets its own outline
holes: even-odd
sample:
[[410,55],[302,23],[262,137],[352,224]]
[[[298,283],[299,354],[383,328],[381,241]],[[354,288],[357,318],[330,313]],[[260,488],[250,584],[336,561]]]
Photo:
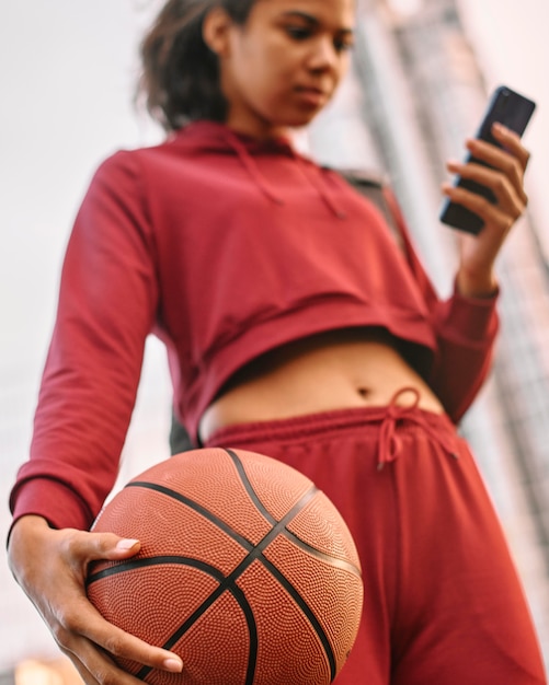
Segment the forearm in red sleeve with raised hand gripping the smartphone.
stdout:
[[499,328],[494,265],[528,200],[524,174],[529,152],[516,133],[502,126],[494,125],[493,135],[504,149],[481,140],[467,141],[472,155],[491,169],[471,162],[449,162],[448,170],[488,186],[496,204],[462,188],[443,186],[451,200],[479,214],[484,227],[478,235],[460,235],[454,295],[444,302],[432,294],[428,299],[430,292],[424,288],[438,342],[430,382],[455,421],[468,409],[491,368]]

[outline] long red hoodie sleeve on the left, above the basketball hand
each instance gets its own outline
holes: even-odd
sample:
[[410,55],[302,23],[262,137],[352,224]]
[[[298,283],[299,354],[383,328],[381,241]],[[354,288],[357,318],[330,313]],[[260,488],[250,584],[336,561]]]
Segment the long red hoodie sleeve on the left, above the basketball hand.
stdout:
[[14,520],[88,530],[115,483],[159,300],[141,176],[136,154],[116,153],[77,214]]

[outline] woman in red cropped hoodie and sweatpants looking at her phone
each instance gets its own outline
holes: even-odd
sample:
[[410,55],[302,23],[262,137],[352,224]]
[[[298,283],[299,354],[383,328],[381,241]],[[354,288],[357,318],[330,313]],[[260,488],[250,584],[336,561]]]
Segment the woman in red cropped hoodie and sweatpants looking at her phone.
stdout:
[[340,508],[366,588],[338,683],[544,683],[499,523],[454,422],[490,365],[494,260],[526,205],[528,152],[470,141],[450,164],[490,205],[447,302],[338,174],[299,155],[353,42],[353,0],[170,0],[144,84],[170,131],[98,170],[78,213],[36,413],[12,492],[10,561],[87,684],[137,683],[111,657],[181,660],[107,624],[83,582],[138,541],[85,532],[113,486],[142,362],[167,345],[175,410],[203,445],[296,466]]

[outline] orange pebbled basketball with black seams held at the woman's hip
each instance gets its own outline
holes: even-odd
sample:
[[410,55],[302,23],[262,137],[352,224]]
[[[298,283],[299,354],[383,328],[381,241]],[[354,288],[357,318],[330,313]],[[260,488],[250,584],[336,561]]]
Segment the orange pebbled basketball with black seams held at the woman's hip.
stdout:
[[100,561],[88,595],[111,623],[178,653],[155,685],[324,685],[351,651],[363,584],[339,511],[306,476],[243,450],[183,452],[131,479],[93,531],[141,542]]

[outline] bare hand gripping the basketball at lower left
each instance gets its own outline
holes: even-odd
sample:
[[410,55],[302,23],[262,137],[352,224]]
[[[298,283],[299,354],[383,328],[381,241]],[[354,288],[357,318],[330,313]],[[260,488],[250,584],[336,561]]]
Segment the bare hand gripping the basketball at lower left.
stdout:
[[117,546],[119,542],[111,533],[55,531],[41,516],[20,519],[10,538],[13,574],[87,685],[139,683],[108,653],[155,669],[181,670],[178,657],[113,626],[88,601],[84,579],[91,561],[125,559],[139,550],[136,541]]

